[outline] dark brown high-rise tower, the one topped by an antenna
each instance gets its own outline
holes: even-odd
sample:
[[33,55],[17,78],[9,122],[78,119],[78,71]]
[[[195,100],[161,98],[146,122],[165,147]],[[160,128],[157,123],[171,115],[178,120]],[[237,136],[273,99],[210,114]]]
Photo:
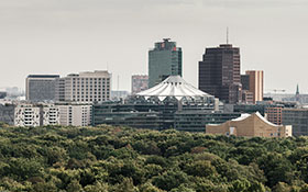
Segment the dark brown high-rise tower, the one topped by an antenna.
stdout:
[[240,48],[223,44],[206,48],[199,61],[199,89],[226,103],[241,101]]

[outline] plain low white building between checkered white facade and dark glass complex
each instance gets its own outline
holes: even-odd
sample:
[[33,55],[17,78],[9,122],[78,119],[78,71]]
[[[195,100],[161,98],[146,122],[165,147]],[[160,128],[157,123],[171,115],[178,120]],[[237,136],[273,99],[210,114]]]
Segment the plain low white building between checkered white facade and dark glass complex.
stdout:
[[92,106],[87,104],[57,105],[59,109],[59,124],[64,126],[91,125]]

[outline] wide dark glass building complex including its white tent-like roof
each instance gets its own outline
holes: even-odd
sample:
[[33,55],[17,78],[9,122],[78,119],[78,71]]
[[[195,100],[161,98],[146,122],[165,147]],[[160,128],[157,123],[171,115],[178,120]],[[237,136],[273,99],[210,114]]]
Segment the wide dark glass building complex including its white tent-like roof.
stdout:
[[[124,102],[95,104],[92,124],[205,132],[207,123],[234,117],[234,114],[221,115],[215,97],[196,89],[179,76],[170,76]],[[219,114],[215,115],[216,111]]]

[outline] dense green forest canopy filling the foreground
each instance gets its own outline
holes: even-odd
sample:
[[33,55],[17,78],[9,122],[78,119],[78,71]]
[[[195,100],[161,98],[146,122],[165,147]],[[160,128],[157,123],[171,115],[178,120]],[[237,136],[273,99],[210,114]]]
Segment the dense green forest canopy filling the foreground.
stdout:
[[308,138],[128,127],[0,128],[0,191],[307,192]]

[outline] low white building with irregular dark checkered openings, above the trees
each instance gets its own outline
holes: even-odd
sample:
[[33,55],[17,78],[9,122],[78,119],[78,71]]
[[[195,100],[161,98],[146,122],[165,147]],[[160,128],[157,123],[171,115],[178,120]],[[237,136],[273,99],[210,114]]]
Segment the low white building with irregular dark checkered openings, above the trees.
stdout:
[[59,124],[59,109],[54,105],[21,104],[14,109],[15,126],[44,126]]

